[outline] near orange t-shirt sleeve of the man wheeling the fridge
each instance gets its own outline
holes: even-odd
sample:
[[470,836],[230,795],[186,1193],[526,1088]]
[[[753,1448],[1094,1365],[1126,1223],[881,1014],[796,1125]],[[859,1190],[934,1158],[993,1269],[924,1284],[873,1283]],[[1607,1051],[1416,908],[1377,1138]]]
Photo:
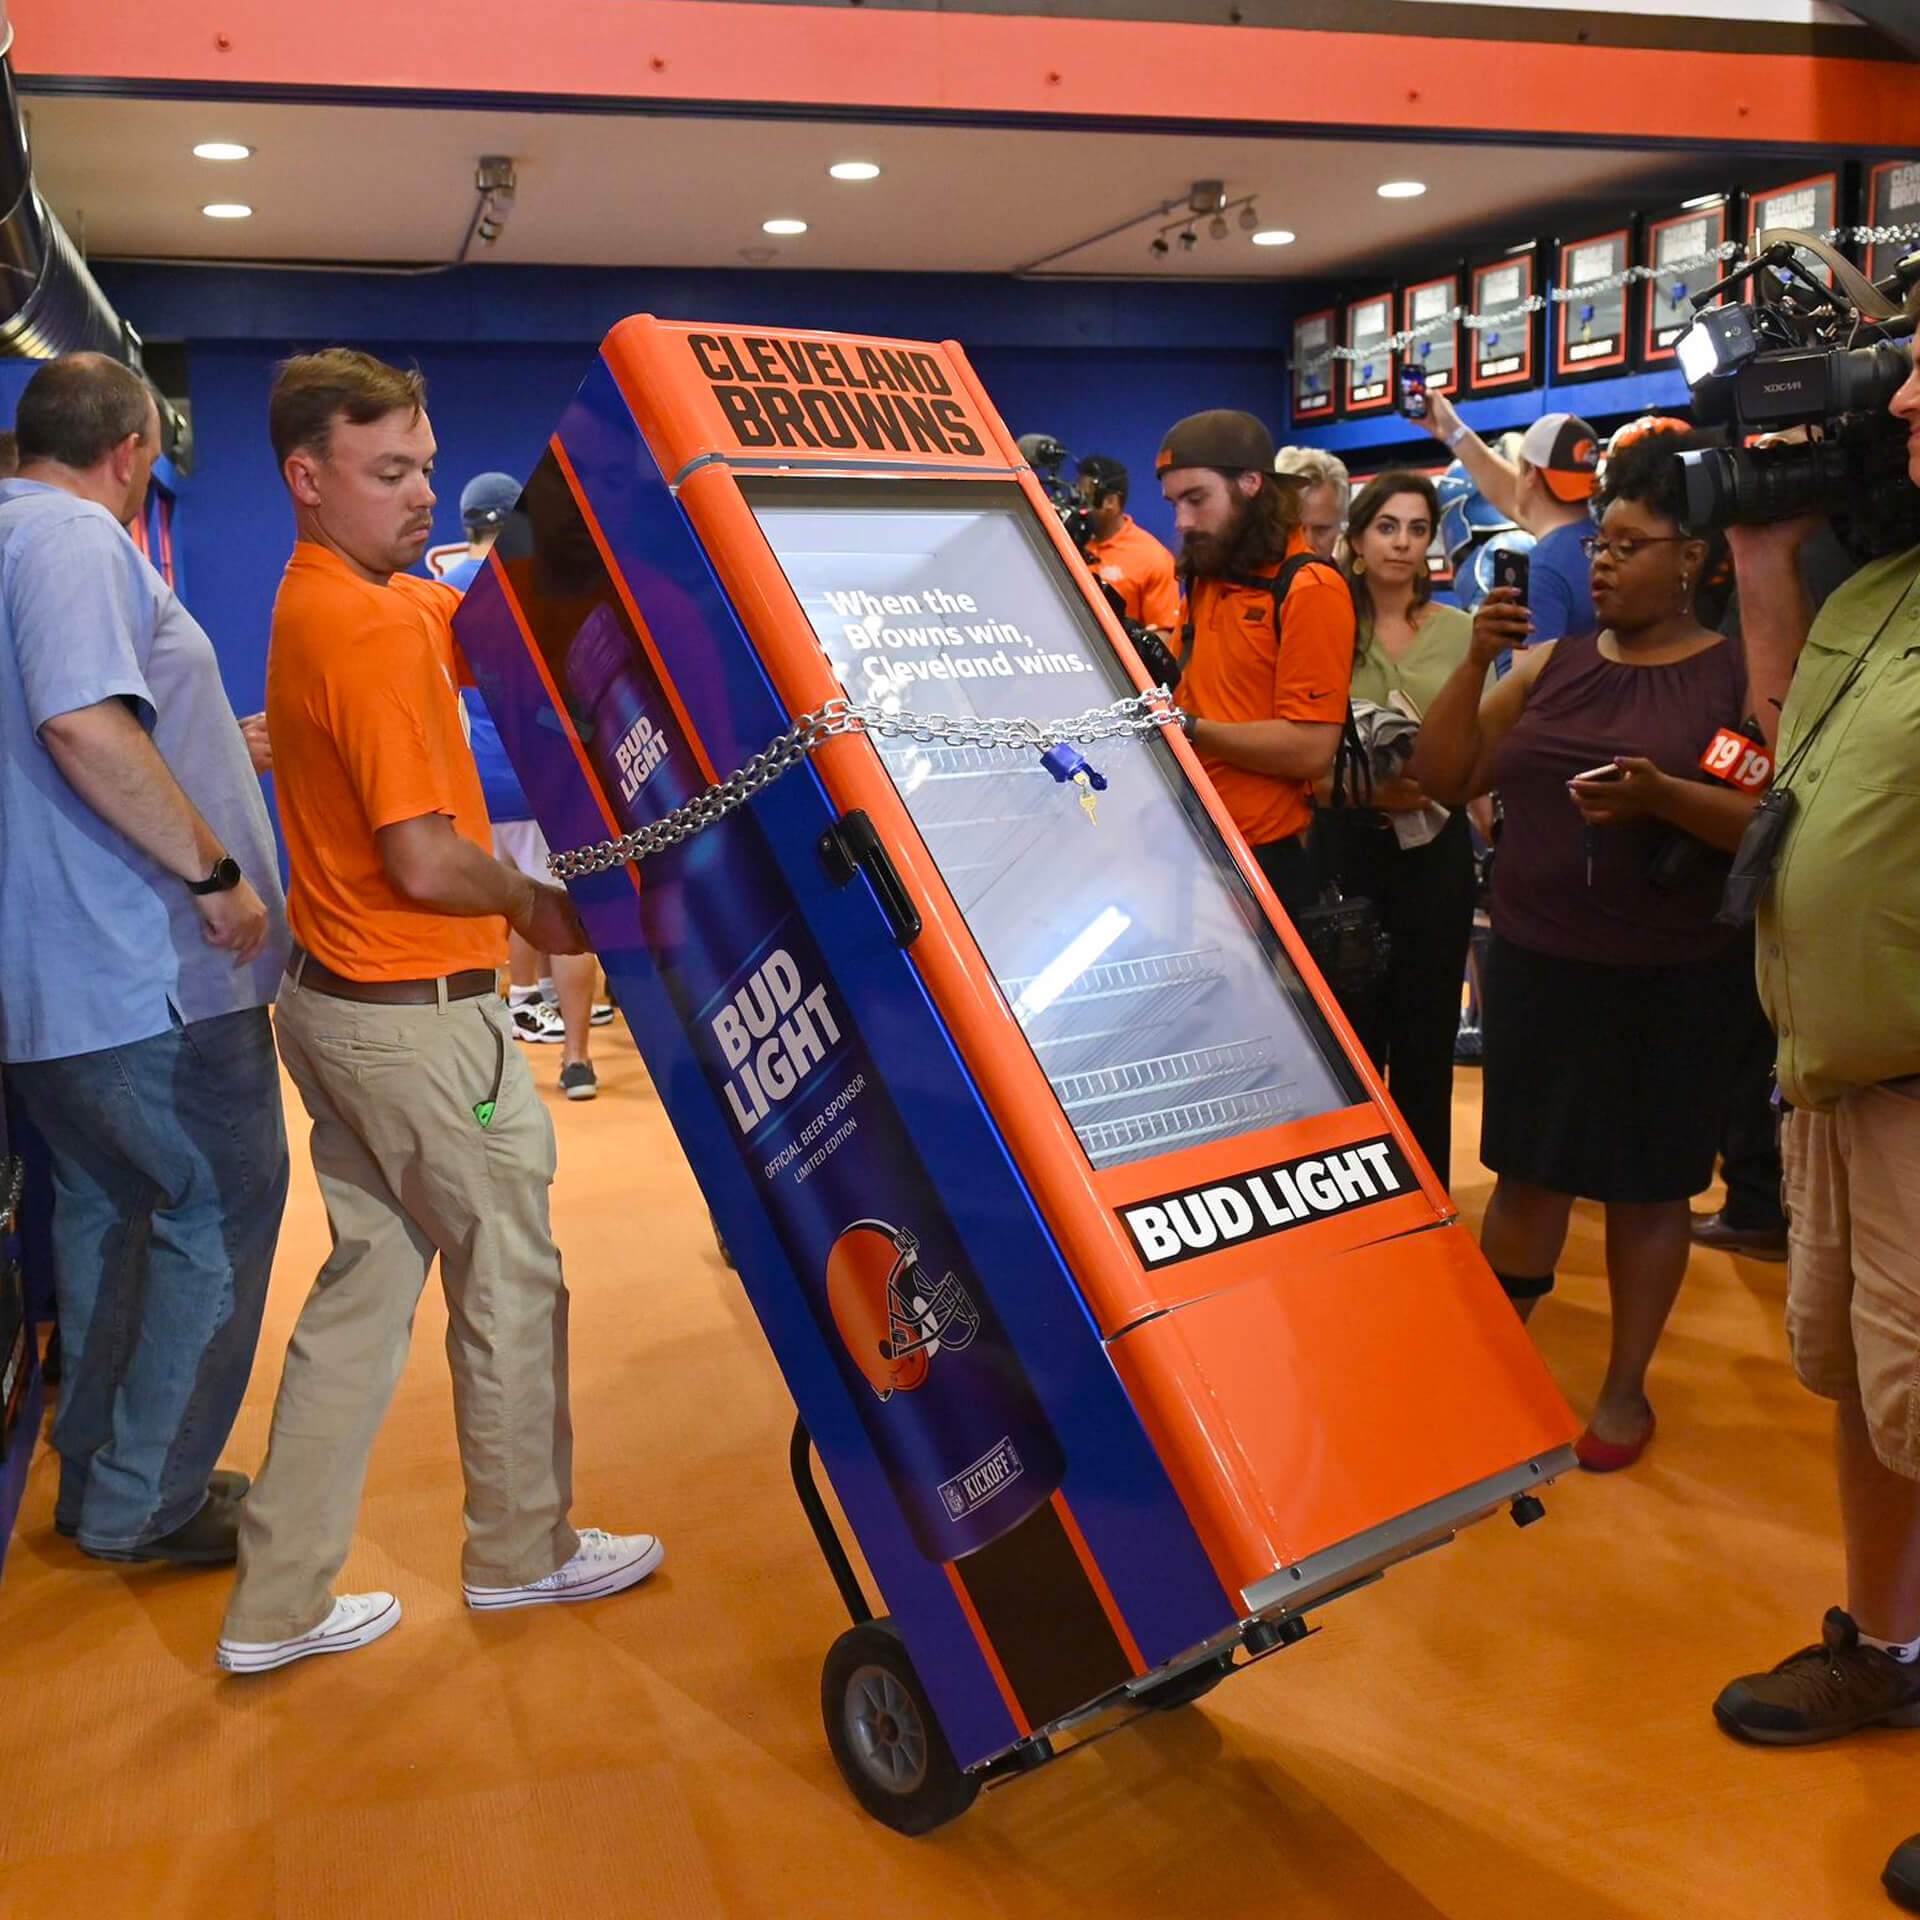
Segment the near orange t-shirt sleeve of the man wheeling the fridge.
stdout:
[[409,620],[363,628],[334,655],[326,720],[372,831],[459,810],[455,768],[467,753],[457,697],[436,647]]

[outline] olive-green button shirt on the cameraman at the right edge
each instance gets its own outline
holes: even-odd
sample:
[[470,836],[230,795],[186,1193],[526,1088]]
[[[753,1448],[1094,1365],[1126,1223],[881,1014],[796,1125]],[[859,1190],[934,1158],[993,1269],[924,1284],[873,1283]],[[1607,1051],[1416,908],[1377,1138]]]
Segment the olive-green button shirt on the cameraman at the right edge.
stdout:
[[1761,998],[1795,1106],[1920,1073],[1920,547],[1820,609],[1780,716],[1782,766],[1859,659],[1784,781],[1793,824],[1759,914]]

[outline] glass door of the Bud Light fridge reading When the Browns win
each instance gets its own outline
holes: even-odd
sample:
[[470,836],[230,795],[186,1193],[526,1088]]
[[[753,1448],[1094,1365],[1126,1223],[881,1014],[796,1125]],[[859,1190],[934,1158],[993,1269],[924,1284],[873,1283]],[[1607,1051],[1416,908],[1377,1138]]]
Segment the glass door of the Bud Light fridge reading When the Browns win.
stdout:
[[[1025,495],[996,482],[751,480],[849,697],[1060,720],[1131,693]],[[1158,739],[1027,749],[877,737],[1094,1167],[1365,1098]]]

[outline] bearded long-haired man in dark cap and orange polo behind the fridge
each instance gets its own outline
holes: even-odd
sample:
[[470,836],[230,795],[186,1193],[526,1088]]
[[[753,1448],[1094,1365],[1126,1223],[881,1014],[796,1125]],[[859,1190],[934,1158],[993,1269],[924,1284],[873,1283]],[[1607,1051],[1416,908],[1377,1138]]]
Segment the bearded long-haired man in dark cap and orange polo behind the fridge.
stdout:
[[1154,467],[1181,540],[1187,733],[1298,918],[1319,893],[1308,828],[1346,720],[1354,597],[1308,547],[1306,480],[1273,470],[1273,436],[1254,415],[1188,415]]

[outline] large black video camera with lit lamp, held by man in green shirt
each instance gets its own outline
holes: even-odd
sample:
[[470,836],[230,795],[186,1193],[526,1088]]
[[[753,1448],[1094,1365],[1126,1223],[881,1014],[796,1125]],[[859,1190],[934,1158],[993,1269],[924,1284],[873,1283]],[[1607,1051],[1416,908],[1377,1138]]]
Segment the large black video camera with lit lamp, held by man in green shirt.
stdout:
[[[1828,267],[1832,288],[1801,265],[1801,252]],[[1761,298],[1705,305],[1761,275]],[[1728,444],[1674,455],[1690,526],[1826,513],[1862,559],[1920,543],[1907,428],[1887,413],[1912,372],[1914,321],[1901,300],[1916,280],[1920,253],[1874,282],[1824,240],[1780,227],[1759,236],[1755,259],[1695,296],[1701,311],[1676,353],[1695,419]],[[1743,444],[1759,434],[1791,438]]]

